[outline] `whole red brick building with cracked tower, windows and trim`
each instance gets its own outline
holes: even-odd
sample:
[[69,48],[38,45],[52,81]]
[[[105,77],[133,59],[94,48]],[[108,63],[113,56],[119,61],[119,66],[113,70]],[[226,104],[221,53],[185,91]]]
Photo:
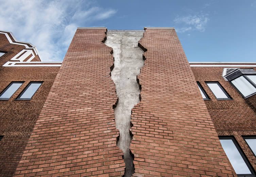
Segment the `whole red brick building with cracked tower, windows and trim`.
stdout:
[[0,31],[0,74],[0,176],[256,175],[256,63],[174,28],[78,28],[62,64]]

